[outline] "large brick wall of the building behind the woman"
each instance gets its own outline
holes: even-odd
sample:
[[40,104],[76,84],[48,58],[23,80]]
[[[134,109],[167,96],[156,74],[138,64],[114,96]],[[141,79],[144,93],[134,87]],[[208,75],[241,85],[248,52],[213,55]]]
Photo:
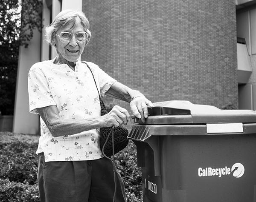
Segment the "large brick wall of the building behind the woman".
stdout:
[[234,0],[83,0],[83,11],[82,60],[153,102],[238,105]]

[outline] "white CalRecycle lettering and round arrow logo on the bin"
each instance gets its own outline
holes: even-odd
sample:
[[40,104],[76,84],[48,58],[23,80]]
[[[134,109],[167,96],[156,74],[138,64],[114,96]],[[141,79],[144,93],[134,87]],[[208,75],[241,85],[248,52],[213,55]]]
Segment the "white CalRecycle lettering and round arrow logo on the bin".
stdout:
[[225,166],[223,168],[198,168],[198,176],[218,176],[222,177],[224,175],[233,175],[236,178],[239,178],[244,175],[244,166],[241,163],[235,163],[231,168]]

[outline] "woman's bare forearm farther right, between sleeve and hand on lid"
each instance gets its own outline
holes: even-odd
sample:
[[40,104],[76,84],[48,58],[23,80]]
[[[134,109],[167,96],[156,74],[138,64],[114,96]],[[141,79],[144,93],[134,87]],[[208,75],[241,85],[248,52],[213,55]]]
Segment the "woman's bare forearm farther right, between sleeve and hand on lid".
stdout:
[[133,90],[119,82],[113,83],[111,88],[109,88],[109,90],[105,94],[129,103],[136,97],[144,97],[144,95],[141,94],[140,91]]

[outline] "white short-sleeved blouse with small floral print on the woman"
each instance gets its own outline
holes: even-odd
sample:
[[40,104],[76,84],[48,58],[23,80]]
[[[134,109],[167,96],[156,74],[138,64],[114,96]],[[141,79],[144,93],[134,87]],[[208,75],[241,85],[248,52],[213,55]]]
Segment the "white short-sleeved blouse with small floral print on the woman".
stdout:
[[[93,71],[101,96],[116,81],[102,71],[98,65],[87,62]],[[93,76],[80,61],[76,62],[75,71],[68,65],[55,65],[51,61],[35,63],[29,70],[28,77],[29,111],[38,114],[36,108],[56,105],[60,117],[66,119],[85,119],[100,116],[99,95]],[[41,122],[37,154],[44,152],[45,162],[79,161],[102,157],[99,148],[99,128],[79,134],[53,137]]]

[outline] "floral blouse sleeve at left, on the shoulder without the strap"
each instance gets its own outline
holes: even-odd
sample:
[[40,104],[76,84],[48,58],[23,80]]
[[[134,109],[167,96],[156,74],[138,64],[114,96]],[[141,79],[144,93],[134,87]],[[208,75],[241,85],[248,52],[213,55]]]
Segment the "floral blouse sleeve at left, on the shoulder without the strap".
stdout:
[[36,108],[56,105],[49,90],[46,77],[39,69],[33,68],[33,66],[29,71],[28,91],[29,112],[38,114]]

